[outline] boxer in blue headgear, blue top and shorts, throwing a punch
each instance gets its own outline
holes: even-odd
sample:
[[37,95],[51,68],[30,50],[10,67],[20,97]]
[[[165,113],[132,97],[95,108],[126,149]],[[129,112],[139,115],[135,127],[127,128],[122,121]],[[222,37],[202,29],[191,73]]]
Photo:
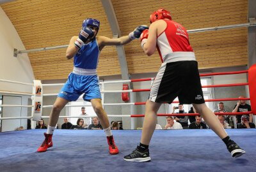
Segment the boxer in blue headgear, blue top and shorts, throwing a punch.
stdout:
[[127,36],[111,39],[105,36],[97,36],[100,28],[100,21],[93,18],[86,18],[83,21],[79,36],[73,36],[67,48],[67,59],[74,57],[74,69],[68,75],[68,80],[63,85],[58,97],[52,107],[47,133],[44,133],[45,140],[38,148],[37,152],[45,152],[52,147],[52,134],[60,116],[60,111],[69,101],[76,101],[81,94],[84,94],[84,101],[90,101],[93,110],[100,120],[108,140],[109,154],[118,154],[111,133],[109,120],[106,112],[102,108],[99,80],[97,78],[97,64],[100,51],[108,45],[125,45],[133,39],[140,38],[140,34],[146,25],[140,25]]

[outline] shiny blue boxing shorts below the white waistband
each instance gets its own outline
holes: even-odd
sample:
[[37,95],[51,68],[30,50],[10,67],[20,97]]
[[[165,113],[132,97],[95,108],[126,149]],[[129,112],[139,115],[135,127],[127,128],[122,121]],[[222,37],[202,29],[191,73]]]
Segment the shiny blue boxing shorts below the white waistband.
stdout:
[[84,101],[101,99],[97,75],[77,75],[70,73],[67,82],[61,88],[58,97],[68,101],[76,101],[84,93]]

